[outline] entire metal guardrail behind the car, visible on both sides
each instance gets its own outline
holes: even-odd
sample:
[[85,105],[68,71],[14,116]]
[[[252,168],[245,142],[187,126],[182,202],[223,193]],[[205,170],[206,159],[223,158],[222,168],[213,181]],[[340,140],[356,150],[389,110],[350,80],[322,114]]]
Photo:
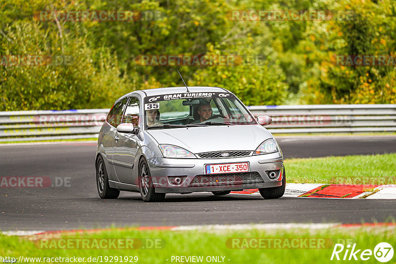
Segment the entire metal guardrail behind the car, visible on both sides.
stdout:
[[[396,132],[396,104],[250,106],[276,134]],[[98,137],[109,109],[0,112],[0,142]]]

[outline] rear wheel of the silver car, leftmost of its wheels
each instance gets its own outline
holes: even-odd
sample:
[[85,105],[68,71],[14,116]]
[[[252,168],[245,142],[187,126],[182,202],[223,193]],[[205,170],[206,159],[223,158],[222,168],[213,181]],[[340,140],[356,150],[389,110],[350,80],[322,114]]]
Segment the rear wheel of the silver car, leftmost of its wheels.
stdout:
[[96,183],[100,198],[116,199],[120,195],[120,190],[111,188],[108,184],[107,170],[101,155],[96,162]]

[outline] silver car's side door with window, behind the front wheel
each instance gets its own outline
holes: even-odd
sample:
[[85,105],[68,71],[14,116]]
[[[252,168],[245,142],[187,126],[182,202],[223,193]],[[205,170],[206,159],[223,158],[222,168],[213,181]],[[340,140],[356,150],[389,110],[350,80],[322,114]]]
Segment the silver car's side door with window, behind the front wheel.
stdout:
[[[139,98],[132,96],[129,99],[122,123],[132,123],[134,127],[140,126]],[[113,164],[117,178],[120,182],[135,184],[132,179],[132,169],[136,152],[140,147],[138,136],[134,133],[115,132],[113,141]]]

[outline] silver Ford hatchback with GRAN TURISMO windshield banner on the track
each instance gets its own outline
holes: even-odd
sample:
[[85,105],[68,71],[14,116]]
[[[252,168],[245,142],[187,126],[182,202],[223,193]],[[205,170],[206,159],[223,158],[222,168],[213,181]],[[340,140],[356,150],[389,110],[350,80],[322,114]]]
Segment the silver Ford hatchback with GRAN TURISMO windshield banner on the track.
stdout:
[[99,132],[96,180],[102,199],[140,192],[146,202],[166,193],[258,188],[282,197],[282,151],[264,125],[230,91],[174,87],[128,93],[111,108]]

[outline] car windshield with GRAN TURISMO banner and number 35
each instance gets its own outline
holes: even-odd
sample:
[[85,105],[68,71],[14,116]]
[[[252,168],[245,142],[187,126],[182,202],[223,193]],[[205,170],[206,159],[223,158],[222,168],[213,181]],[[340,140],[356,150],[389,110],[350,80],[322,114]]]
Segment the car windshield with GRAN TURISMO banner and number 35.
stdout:
[[148,96],[145,120],[149,129],[257,124],[246,107],[227,92]]

